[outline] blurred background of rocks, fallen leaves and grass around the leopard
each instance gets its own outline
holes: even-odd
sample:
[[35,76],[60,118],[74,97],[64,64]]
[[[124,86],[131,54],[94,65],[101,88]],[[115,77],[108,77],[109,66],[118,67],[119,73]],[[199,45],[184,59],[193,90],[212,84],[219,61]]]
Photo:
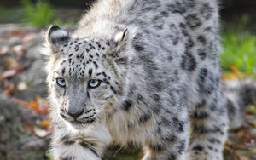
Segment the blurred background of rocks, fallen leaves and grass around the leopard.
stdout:
[[[44,83],[41,31],[70,28],[94,0],[0,0],[0,160],[53,158],[49,151],[49,104]],[[256,1],[220,0],[223,81],[256,78]],[[135,160],[142,152],[109,148],[107,159]],[[256,160],[256,107],[230,131],[227,160]]]

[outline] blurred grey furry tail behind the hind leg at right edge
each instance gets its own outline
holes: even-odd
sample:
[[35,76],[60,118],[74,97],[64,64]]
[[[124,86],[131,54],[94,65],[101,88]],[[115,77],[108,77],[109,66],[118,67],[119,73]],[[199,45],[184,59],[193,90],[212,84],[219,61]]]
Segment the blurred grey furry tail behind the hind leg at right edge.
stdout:
[[230,129],[236,129],[243,123],[246,107],[256,106],[256,83],[252,80],[225,81],[224,95],[227,97]]

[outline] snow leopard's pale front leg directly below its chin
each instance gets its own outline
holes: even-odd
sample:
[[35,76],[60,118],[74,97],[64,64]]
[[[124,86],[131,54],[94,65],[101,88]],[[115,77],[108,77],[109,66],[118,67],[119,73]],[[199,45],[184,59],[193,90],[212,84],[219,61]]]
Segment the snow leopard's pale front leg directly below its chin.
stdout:
[[83,131],[55,129],[52,151],[55,160],[101,160],[111,137],[104,127],[90,127]]

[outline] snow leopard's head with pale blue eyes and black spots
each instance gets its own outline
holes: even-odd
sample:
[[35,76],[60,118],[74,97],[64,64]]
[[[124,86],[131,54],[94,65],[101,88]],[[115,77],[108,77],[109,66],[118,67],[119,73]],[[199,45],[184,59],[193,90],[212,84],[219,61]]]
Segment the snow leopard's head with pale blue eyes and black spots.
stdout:
[[110,40],[74,38],[58,26],[46,33],[51,106],[74,128],[102,121],[118,106],[125,88],[122,68],[128,63],[119,46],[126,33]]

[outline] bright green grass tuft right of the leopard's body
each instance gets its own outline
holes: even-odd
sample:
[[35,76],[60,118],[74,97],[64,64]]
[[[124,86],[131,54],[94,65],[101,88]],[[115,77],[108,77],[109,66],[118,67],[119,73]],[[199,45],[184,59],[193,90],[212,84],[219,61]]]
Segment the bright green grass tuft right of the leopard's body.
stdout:
[[247,16],[236,24],[227,25],[222,34],[223,51],[220,54],[224,71],[236,67],[247,76],[256,77],[256,35],[248,28]]

